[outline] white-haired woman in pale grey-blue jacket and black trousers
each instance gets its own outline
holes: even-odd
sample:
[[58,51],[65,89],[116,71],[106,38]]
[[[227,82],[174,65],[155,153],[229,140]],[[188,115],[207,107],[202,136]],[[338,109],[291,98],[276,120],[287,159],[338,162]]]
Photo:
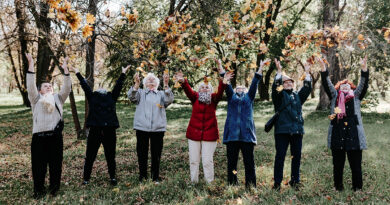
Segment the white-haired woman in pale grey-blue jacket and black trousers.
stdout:
[[167,126],[165,109],[173,102],[172,90],[168,87],[169,76],[164,74],[164,91],[159,91],[160,80],[152,73],[143,79],[140,89],[139,73],[134,76],[134,86],[127,93],[131,102],[135,103],[134,130],[137,136],[137,156],[139,180],[146,180],[148,167],[148,149],[152,156],[152,180],[159,182],[160,159],[163,148],[163,137]]

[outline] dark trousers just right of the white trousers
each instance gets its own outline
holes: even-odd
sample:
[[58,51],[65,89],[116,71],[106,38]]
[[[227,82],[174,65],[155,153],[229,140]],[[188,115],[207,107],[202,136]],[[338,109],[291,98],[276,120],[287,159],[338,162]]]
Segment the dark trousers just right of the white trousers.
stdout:
[[[226,152],[228,158],[228,182],[229,184],[238,184],[237,180],[237,161],[241,150],[245,166],[245,185],[256,187],[255,160],[253,156],[254,144],[249,142],[228,142],[226,143]],[[233,173],[234,172],[234,173]]]

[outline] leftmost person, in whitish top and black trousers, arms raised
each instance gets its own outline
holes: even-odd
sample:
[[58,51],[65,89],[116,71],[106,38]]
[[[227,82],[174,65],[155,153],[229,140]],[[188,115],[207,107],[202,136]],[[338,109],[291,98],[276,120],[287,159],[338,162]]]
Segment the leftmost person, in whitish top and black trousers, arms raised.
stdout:
[[62,130],[55,130],[62,120],[63,105],[69,96],[72,82],[67,67],[68,58],[64,60],[64,84],[59,93],[53,93],[51,83],[35,84],[34,60],[26,54],[29,62],[27,71],[27,92],[33,113],[33,137],[31,142],[31,164],[34,181],[34,198],[45,195],[45,176],[49,165],[51,195],[56,195],[60,188],[63,138]]

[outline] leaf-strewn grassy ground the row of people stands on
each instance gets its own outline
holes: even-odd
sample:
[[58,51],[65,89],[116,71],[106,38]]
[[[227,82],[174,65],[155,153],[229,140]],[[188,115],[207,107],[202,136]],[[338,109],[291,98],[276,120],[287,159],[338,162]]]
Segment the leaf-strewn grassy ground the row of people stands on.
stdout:
[[[239,186],[226,183],[226,148],[217,146],[214,164],[215,181],[207,185],[203,180],[191,184],[189,179],[188,147],[185,131],[191,106],[185,99],[177,99],[167,110],[168,131],[164,138],[161,162],[162,183],[138,183],[135,132],[132,130],[135,107],[118,104],[121,128],[117,130],[116,188],[108,183],[103,149],[94,164],[91,183],[81,186],[85,141],[74,135],[69,104],[65,105],[64,162],[62,186],[57,197],[46,196],[36,201],[32,196],[30,164],[31,111],[20,106],[20,100],[1,96],[0,101],[0,204],[389,204],[390,203],[390,116],[363,113],[369,149],[363,152],[363,191],[352,192],[348,163],[344,174],[345,191],[333,189],[332,157],[326,147],[329,120],[326,112],[314,112],[315,100],[304,108],[306,134],[303,140],[301,175],[304,187],[294,191],[287,184],[291,158],[286,157],[281,192],[271,189],[275,155],[272,133],[263,131],[264,123],[272,115],[270,102],[255,103],[255,122],[258,145],[255,147],[257,188],[246,190],[242,159],[239,161]],[[81,98],[79,98],[81,99]],[[78,101],[83,116],[83,101]],[[226,103],[217,111],[220,133],[226,118]],[[201,177],[203,173],[201,172]]]

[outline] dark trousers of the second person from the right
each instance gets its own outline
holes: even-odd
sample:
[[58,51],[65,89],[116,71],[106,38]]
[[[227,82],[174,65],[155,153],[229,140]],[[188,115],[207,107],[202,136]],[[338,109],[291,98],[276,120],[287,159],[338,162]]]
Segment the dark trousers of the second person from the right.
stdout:
[[302,150],[302,135],[277,134],[275,135],[276,156],[274,164],[274,181],[275,184],[280,184],[283,179],[284,158],[288,145],[290,144],[291,151],[291,180],[290,184],[299,183],[299,168],[301,166],[301,150]]

